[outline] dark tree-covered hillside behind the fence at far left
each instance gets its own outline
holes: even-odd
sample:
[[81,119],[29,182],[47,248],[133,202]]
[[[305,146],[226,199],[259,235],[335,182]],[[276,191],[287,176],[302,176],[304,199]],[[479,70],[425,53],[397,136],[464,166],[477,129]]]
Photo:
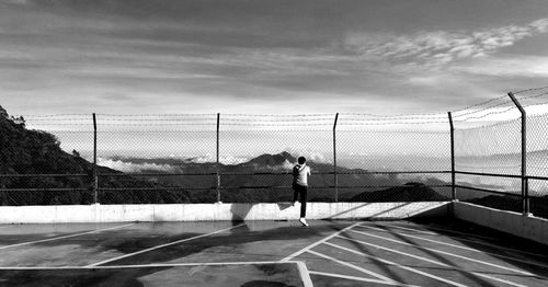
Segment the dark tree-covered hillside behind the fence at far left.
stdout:
[[[190,200],[184,191],[159,186],[149,179],[128,176],[105,167],[98,167],[98,173],[109,174],[100,177],[101,204]],[[80,158],[77,151],[65,152],[54,135],[26,129],[23,117],[9,117],[1,106],[0,174],[3,175],[0,177],[0,205],[94,202],[93,164]],[[157,191],[147,191],[150,188]]]

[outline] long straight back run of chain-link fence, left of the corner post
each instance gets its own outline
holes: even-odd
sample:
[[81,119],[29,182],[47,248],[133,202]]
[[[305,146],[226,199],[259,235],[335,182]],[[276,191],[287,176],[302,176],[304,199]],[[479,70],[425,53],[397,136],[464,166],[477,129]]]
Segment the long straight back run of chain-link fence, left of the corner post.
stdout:
[[[312,202],[450,196],[444,115],[53,115],[22,126],[11,141],[38,156],[2,172],[3,205],[290,202],[300,156]],[[26,145],[35,134],[52,147]]]

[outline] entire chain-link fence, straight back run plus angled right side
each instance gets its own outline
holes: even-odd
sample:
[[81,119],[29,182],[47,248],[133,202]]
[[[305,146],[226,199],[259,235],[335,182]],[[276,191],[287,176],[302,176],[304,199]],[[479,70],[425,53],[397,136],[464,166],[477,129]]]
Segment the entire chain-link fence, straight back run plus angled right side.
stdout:
[[544,215],[547,93],[448,114],[5,116],[0,203],[290,202],[304,156],[312,202],[459,199]]

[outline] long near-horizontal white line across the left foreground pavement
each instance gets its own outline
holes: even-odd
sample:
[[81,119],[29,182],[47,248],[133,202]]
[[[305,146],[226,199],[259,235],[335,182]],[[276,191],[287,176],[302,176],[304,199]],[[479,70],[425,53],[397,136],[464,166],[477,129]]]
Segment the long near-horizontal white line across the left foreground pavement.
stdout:
[[153,263],[137,265],[106,265],[106,266],[14,266],[0,267],[3,271],[62,271],[62,269],[123,269],[123,268],[155,268],[155,267],[185,267],[185,266],[222,266],[222,265],[258,265],[258,264],[296,264],[299,261],[249,261],[249,262],[202,262],[202,263]]

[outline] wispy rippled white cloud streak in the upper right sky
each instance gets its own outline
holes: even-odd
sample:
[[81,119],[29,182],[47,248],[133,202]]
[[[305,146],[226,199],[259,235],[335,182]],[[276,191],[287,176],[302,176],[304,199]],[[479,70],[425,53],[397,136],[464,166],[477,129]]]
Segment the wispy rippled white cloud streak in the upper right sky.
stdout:
[[414,58],[427,66],[439,66],[458,59],[482,57],[516,42],[548,32],[548,19],[526,25],[509,25],[479,31],[421,31],[412,35],[349,34],[346,45],[373,58],[409,60]]

